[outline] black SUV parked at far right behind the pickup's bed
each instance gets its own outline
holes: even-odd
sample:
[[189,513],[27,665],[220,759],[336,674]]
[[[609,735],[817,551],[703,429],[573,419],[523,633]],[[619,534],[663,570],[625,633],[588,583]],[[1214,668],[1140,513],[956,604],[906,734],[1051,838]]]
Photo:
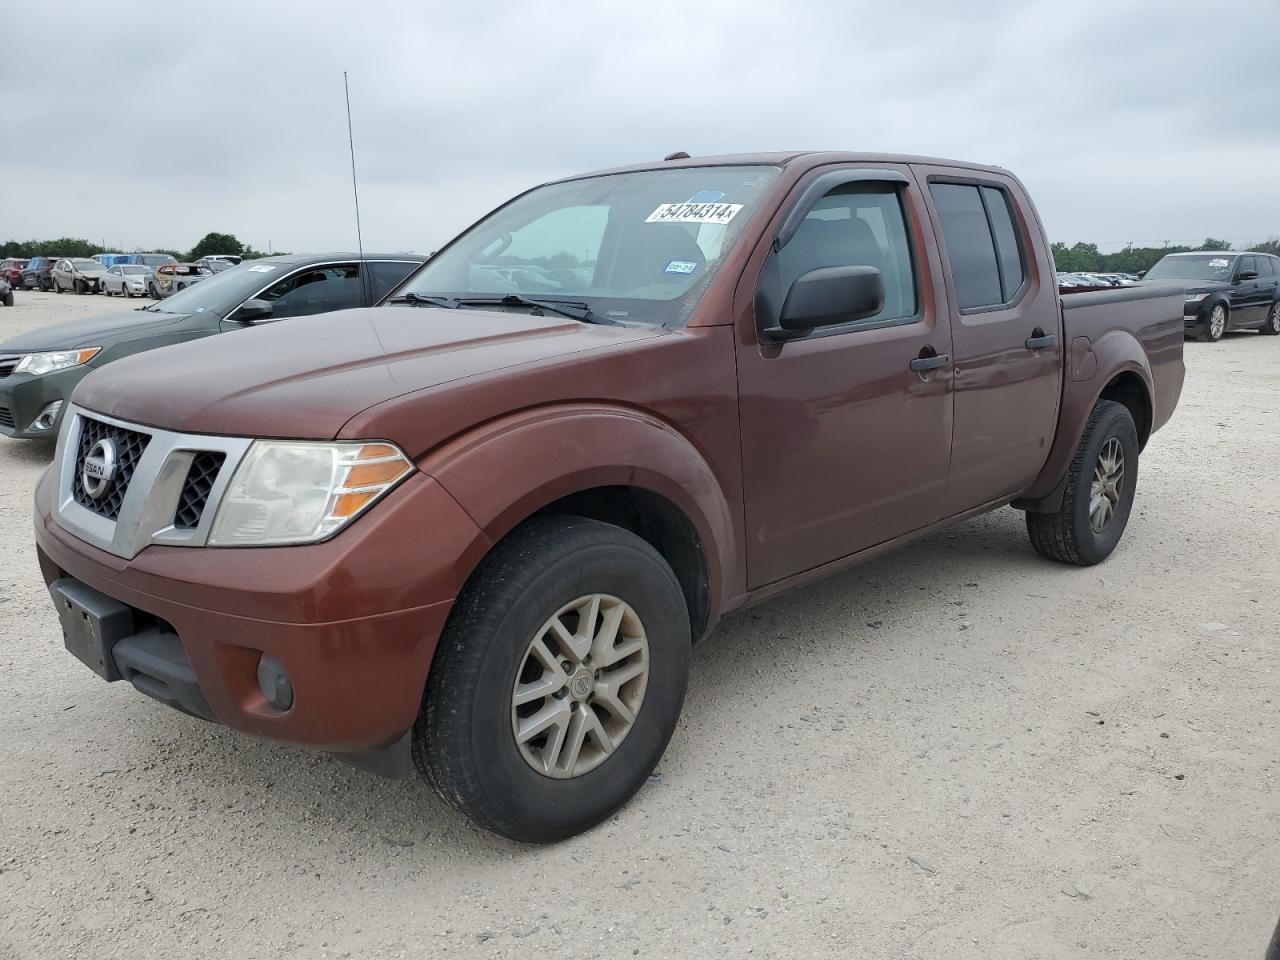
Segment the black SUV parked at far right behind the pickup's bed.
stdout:
[[1280,334],[1280,257],[1217,251],[1169,253],[1143,279],[1185,284],[1183,323],[1189,335],[1220,340],[1228,330]]

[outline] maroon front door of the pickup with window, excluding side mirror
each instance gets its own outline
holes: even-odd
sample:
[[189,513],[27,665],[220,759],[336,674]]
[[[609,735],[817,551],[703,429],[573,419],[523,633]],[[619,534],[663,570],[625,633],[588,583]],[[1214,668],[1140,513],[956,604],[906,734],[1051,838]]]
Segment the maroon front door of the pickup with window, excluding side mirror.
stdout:
[[[840,172],[851,179],[812,186]],[[774,233],[762,241],[737,294],[751,303],[737,314],[749,589],[937,520],[951,448],[950,365],[911,369],[946,357],[951,334],[934,308],[945,297],[937,247],[910,170],[820,168],[790,204],[776,225],[794,223],[797,206],[804,219],[781,250]],[[881,271],[879,314],[783,344],[759,337],[760,315],[797,276],[841,265]]]

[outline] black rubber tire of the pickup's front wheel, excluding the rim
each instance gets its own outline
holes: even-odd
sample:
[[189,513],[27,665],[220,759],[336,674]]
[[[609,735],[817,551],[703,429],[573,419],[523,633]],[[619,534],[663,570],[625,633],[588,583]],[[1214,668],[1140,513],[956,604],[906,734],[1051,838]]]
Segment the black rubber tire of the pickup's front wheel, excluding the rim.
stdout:
[[[594,769],[552,778],[521,755],[512,691],[539,628],[593,593],[625,600],[649,639],[635,723]],[[653,772],[676,728],[689,677],[689,611],[676,575],[648,543],[579,517],[526,522],[481,562],[440,636],[413,727],[413,759],[476,824],[549,842],[618,810]]]

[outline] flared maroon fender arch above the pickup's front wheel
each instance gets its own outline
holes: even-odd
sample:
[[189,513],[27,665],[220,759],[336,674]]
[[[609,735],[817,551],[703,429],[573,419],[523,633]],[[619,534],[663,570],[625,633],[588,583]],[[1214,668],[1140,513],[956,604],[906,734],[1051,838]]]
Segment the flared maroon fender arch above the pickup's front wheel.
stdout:
[[488,422],[426,454],[433,476],[497,541],[543,507],[599,486],[635,486],[678,507],[703,541],[712,622],[741,591],[742,552],[722,485],[675,428],[643,411],[552,406]]

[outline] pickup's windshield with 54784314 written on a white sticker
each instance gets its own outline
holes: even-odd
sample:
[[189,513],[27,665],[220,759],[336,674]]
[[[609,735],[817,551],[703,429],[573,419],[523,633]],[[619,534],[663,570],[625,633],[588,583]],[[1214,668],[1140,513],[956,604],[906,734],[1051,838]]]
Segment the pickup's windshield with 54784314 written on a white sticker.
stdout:
[[680,324],[777,175],[774,166],[695,166],[539,187],[396,294],[558,300],[612,320]]

